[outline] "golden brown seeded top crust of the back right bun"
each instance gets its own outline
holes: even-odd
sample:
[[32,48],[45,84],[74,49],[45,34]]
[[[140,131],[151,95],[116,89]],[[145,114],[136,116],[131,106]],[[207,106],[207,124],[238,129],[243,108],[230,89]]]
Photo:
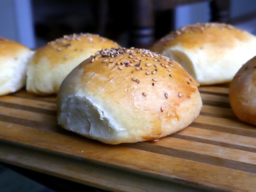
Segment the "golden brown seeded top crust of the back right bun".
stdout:
[[224,23],[197,23],[181,27],[169,33],[153,45],[151,50],[161,53],[167,47],[177,44],[181,44],[187,49],[193,49],[209,43],[216,51],[223,51],[223,49],[232,48],[236,40],[246,41],[248,38],[248,33],[231,25]]

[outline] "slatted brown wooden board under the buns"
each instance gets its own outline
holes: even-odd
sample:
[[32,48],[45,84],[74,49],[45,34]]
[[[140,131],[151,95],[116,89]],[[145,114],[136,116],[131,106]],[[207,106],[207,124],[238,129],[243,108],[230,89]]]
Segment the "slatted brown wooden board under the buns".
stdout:
[[0,161],[114,191],[256,191],[256,127],[234,116],[227,86],[199,89],[203,107],[186,129],[121,145],[61,129],[55,97],[0,97]]

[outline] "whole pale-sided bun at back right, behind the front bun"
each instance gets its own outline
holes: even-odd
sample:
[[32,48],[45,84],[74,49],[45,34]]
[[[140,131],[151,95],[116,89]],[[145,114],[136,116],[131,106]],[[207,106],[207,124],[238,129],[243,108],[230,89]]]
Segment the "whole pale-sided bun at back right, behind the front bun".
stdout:
[[179,62],[201,85],[231,82],[255,50],[254,35],[218,23],[182,27],[152,47]]

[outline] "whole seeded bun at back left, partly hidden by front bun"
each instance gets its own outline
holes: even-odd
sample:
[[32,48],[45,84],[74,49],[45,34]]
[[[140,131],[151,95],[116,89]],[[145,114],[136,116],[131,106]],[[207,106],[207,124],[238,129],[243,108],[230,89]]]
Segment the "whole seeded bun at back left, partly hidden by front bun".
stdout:
[[81,33],[64,35],[39,49],[29,64],[27,91],[56,94],[62,80],[83,60],[96,51],[119,45],[99,35]]

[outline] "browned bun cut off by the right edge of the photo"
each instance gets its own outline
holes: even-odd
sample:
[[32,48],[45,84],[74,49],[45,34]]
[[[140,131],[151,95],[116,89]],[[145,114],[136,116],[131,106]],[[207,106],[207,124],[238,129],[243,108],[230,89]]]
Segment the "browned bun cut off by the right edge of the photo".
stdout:
[[240,120],[256,125],[256,56],[234,76],[229,100],[234,114]]

